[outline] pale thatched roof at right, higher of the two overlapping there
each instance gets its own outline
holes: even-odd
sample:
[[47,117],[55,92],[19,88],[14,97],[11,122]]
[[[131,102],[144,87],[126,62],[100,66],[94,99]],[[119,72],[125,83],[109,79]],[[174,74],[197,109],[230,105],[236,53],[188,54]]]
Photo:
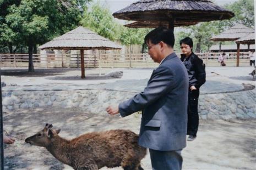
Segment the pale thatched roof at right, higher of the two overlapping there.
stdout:
[[219,35],[214,36],[210,40],[212,41],[235,41],[238,38],[247,36],[248,33],[254,32],[254,29],[244,26],[242,24],[237,24],[232,26],[230,29],[221,32]]

